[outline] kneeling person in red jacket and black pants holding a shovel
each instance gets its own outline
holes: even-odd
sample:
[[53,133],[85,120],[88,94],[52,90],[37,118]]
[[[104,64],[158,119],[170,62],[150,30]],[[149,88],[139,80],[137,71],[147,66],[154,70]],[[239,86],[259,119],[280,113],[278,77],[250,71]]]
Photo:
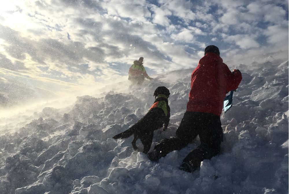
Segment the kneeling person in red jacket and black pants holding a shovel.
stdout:
[[192,72],[187,110],[176,131],[176,137],[163,139],[147,156],[157,161],[173,150],[180,150],[199,135],[201,144],[183,160],[180,169],[192,172],[201,161],[220,152],[223,129],[220,115],[226,93],[237,89],[242,80],[239,70],[231,72],[220,57],[218,47],[205,48],[205,56]]

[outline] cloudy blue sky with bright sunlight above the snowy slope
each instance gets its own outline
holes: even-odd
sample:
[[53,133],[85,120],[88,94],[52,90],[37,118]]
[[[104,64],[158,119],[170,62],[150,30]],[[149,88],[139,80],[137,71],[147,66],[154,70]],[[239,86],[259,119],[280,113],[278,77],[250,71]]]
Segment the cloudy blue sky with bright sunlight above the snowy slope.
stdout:
[[141,56],[149,75],[194,68],[211,44],[224,62],[288,50],[288,1],[9,0],[0,6],[2,83],[69,92],[127,80]]

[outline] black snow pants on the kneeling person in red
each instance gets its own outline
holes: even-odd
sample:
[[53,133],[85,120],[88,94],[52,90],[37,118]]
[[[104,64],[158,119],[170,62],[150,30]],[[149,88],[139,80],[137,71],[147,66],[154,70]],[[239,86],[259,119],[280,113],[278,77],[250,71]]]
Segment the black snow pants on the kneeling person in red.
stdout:
[[162,157],[173,150],[180,150],[191,143],[199,135],[201,144],[191,150],[183,163],[190,163],[193,168],[201,165],[204,159],[211,159],[220,152],[223,141],[223,129],[220,117],[210,113],[186,111],[181,124],[176,131],[176,137],[163,139],[155,145]]

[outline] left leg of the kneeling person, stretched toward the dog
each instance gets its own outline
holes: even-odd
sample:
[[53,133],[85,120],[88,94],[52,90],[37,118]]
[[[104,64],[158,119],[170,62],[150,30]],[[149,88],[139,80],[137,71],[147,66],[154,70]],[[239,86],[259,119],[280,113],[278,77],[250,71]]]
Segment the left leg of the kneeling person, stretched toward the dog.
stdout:
[[181,124],[176,131],[176,137],[162,139],[160,143],[156,144],[154,150],[148,153],[151,161],[157,161],[161,157],[166,156],[169,152],[180,150],[197,137],[197,131],[194,129],[194,119],[192,112],[186,112]]

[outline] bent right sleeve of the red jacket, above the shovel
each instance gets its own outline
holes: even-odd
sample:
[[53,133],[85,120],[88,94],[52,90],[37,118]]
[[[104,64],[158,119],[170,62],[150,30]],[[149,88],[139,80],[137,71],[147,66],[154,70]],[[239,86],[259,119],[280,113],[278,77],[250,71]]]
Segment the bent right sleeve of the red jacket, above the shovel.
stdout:
[[216,79],[218,84],[226,89],[226,93],[231,90],[237,89],[242,81],[242,74],[240,71],[232,73],[228,66],[224,63],[220,63],[216,66]]

